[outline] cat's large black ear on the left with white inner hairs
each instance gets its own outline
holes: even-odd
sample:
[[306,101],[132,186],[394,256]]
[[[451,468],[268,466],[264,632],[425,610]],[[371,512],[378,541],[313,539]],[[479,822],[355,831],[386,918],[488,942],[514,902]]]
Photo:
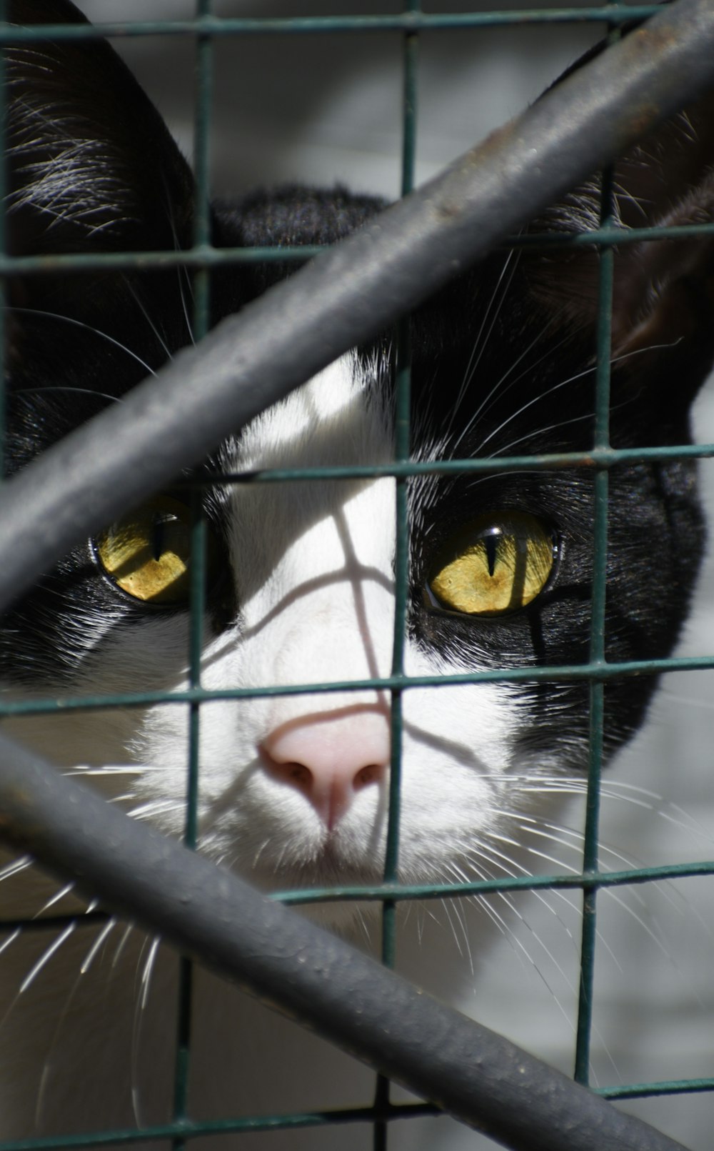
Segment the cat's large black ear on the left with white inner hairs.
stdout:
[[[83,24],[69,0],[10,0],[11,23]],[[191,170],[148,97],[98,37],[6,49],[8,245],[13,256],[184,250]],[[190,343],[190,282],[176,267],[13,275],[10,390],[122,395]]]

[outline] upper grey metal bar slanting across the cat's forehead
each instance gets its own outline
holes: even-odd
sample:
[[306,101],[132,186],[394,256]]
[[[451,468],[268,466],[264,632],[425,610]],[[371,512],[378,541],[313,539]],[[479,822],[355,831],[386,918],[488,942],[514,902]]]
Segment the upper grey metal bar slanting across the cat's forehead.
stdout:
[[713,59],[711,0],[676,0],[47,451],[7,485],[0,608],[78,540],[391,325],[712,84]]

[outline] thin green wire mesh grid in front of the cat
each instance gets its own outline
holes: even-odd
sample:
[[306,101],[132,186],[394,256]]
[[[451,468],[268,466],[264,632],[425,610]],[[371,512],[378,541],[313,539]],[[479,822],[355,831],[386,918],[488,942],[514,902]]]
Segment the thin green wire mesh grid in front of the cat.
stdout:
[[[139,262],[143,267],[177,265],[191,269],[194,298],[193,331],[197,338],[204,335],[208,327],[209,314],[209,275],[210,269],[218,264],[235,264],[238,261],[261,261],[267,259],[281,260],[305,260],[315,254],[316,249],[293,249],[279,251],[271,249],[244,249],[214,251],[209,246],[209,219],[208,219],[208,196],[209,196],[209,170],[210,170],[210,123],[213,101],[213,47],[218,37],[251,37],[251,36],[286,36],[295,38],[295,51],[299,52],[300,38],[304,36],[318,36],[322,33],[354,32],[390,32],[401,38],[402,41],[402,155],[401,155],[401,189],[402,193],[410,190],[414,184],[414,169],[416,158],[416,108],[419,92],[419,45],[422,33],[436,33],[439,30],[471,30],[474,35],[478,30],[496,26],[522,26],[524,24],[555,24],[555,23],[597,23],[602,25],[607,21],[611,29],[609,36],[614,38],[619,35],[619,28],[624,22],[632,18],[644,18],[657,12],[655,5],[625,5],[607,3],[592,6],[589,8],[547,8],[533,10],[512,12],[467,12],[452,14],[431,14],[421,10],[420,0],[408,0],[405,10],[391,15],[368,15],[368,16],[315,16],[315,17],[276,17],[276,18],[218,18],[213,15],[212,0],[197,0],[195,16],[193,20],[169,20],[169,21],[143,21],[132,23],[107,22],[97,28],[84,25],[60,25],[52,29],[36,28],[31,31],[18,31],[10,26],[0,26],[0,44],[7,45],[22,38],[23,40],[39,39],[43,36],[52,36],[55,39],[62,38],[94,38],[98,36],[116,37],[144,37],[158,33],[167,36],[193,36],[195,40],[195,110],[194,110],[194,171],[198,184],[198,211],[195,219],[194,247],[190,252],[169,253],[113,253],[107,256],[57,256],[52,258],[36,257],[16,259],[7,254],[5,246],[3,230],[0,230],[0,277],[5,283],[5,277],[22,267],[23,275],[41,275],[49,270],[66,267],[69,272],[78,273],[84,269],[105,266],[112,268],[135,267]],[[5,3],[0,0],[0,22],[5,16]],[[114,14],[113,14],[114,15]],[[0,83],[2,81],[2,58],[0,56]],[[1,143],[1,140],[0,140]],[[383,679],[367,679],[363,681],[350,681],[346,684],[325,684],[309,686],[310,694],[320,691],[333,692],[345,689],[361,689],[366,687],[379,687],[391,692],[392,698],[392,771],[390,783],[390,816],[386,861],[384,869],[384,883],[373,889],[335,887],[321,891],[298,891],[290,893],[278,893],[274,898],[289,904],[318,902],[327,900],[346,899],[374,899],[382,902],[383,907],[383,962],[393,966],[396,962],[396,913],[400,902],[410,899],[443,899],[445,897],[462,897],[468,894],[489,894],[515,892],[520,890],[567,890],[578,889],[583,891],[584,915],[582,936],[582,965],[581,965],[581,989],[577,1017],[577,1036],[575,1052],[575,1077],[588,1084],[590,1065],[590,1043],[592,1035],[592,1005],[593,1005],[593,977],[596,963],[596,938],[597,938],[597,895],[600,890],[607,887],[629,886],[632,884],[644,884],[658,882],[667,878],[680,878],[686,876],[709,876],[714,874],[714,862],[680,863],[651,868],[627,868],[617,871],[601,872],[598,860],[598,826],[599,826],[599,795],[600,795],[600,767],[602,759],[602,694],[605,681],[613,677],[625,674],[655,673],[666,670],[694,670],[714,668],[714,656],[701,656],[690,658],[668,658],[647,662],[631,662],[615,668],[605,662],[604,634],[605,634],[605,564],[607,547],[607,489],[609,468],[619,463],[629,463],[638,459],[667,459],[684,458],[688,456],[713,456],[714,445],[704,448],[682,445],[681,448],[655,448],[638,450],[614,450],[608,440],[608,413],[609,413],[609,338],[611,338],[611,314],[612,314],[612,283],[613,283],[613,244],[632,243],[639,239],[677,238],[682,235],[708,235],[714,231],[714,224],[698,224],[683,227],[671,227],[666,229],[632,229],[623,236],[620,229],[612,226],[612,181],[611,174],[602,176],[601,196],[601,219],[600,227],[586,236],[577,236],[563,239],[562,236],[528,236],[513,237],[510,246],[522,246],[539,244],[570,245],[582,244],[597,245],[600,251],[600,288],[599,288],[599,322],[597,335],[597,420],[596,441],[593,450],[589,452],[588,466],[594,466],[596,474],[596,528],[594,528],[594,577],[592,592],[592,631],[590,662],[582,666],[543,668],[543,669],[508,669],[504,671],[476,672],[462,676],[444,677],[419,677],[409,678],[404,676],[404,635],[406,618],[406,594],[407,594],[407,480],[410,475],[424,472],[448,473],[458,471],[460,473],[479,470],[490,472],[514,468],[538,467],[562,467],[566,465],[581,464],[585,460],[578,453],[553,455],[553,456],[513,456],[499,460],[475,459],[475,460],[447,460],[437,464],[420,464],[410,462],[410,432],[409,432],[409,348],[406,327],[398,333],[396,341],[396,380],[397,380],[397,442],[394,465],[384,467],[348,467],[348,468],[321,468],[321,470],[292,470],[271,471],[241,477],[221,477],[221,482],[233,480],[235,482],[277,482],[291,479],[320,481],[325,478],[352,478],[374,477],[389,474],[396,477],[397,481],[397,562],[396,562],[396,585],[397,585],[397,611],[393,642],[392,670],[389,677]],[[0,220],[0,229],[2,221]],[[1,302],[0,302],[1,303]],[[0,322],[5,317],[5,308],[0,307]],[[0,330],[0,337],[2,331]],[[212,482],[210,478],[201,481]],[[132,695],[108,696],[84,696],[74,700],[38,700],[23,703],[2,703],[0,715],[32,716],[48,712],[61,708],[62,710],[84,710],[97,708],[123,708],[140,707],[148,702],[164,701],[167,706],[189,704],[190,723],[190,753],[187,764],[186,784],[186,825],[185,843],[195,846],[197,843],[197,800],[199,786],[198,767],[198,744],[200,730],[201,703],[214,699],[243,699],[255,695],[269,694],[299,694],[301,688],[297,687],[270,687],[258,689],[233,689],[225,692],[207,692],[201,687],[201,616],[205,597],[206,572],[204,564],[205,551],[205,525],[200,513],[200,502],[198,489],[193,497],[193,551],[197,562],[192,565],[192,589],[191,589],[191,613],[192,628],[190,637],[190,688],[189,691],[174,693],[166,696],[162,693],[136,693]],[[462,884],[433,884],[430,886],[408,886],[398,883],[398,852],[399,852],[399,779],[401,770],[401,698],[404,691],[415,686],[445,686],[456,683],[478,681],[517,681],[517,680],[558,680],[582,678],[590,681],[591,696],[591,763],[588,782],[588,801],[585,811],[585,833],[583,844],[583,864],[579,874],[553,874],[537,877],[508,877],[504,879],[481,881],[478,883]],[[302,688],[305,691],[305,688]],[[91,922],[94,916],[87,916],[86,922]],[[45,918],[41,923],[24,924],[36,930],[48,930],[56,928],[62,922],[62,917]],[[15,924],[6,923],[6,927]],[[356,1108],[345,1111],[339,1114],[309,1113],[293,1115],[272,1115],[246,1119],[225,1119],[222,1121],[206,1122],[201,1125],[190,1123],[187,1112],[187,1082],[191,1060],[191,992],[192,992],[192,967],[187,960],[182,961],[179,993],[177,1004],[177,1050],[176,1050],[176,1075],[174,1096],[174,1122],[162,1127],[151,1129],[108,1131],[101,1138],[95,1136],[72,1136],[56,1139],[26,1139],[2,1144],[5,1151],[30,1151],[31,1148],[49,1146],[93,1146],[99,1143],[131,1143],[148,1137],[169,1137],[174,1146],[179,1148],[185,1143],[187,1129],[190,1135],[201,1133],[228,1133],[228,1131],[258,1131],[262,1129],[275,1130],[277,1128],[300,1128],[320,1126],[332,1122],[350,1122],[355,1120],[371,1120],[374,1123],[374,1148],[376,1151],[389,1146],[390,1120],[398,1115],[430,1114],[435,1111],[429,1104],[401,1104],[396,1105],[390,1102],[390,1084],[378,1077],[376,1083],[375,1104],[373,1108]],[[698,1092],[714,1090],[714,1077],[678,1080],[673,1077],[666,1082],[629,1083],[612,1087],[596,1088],[601,1095],[613,1099],[635,1098],[640,1096],[654,1096],[658,1093]]]

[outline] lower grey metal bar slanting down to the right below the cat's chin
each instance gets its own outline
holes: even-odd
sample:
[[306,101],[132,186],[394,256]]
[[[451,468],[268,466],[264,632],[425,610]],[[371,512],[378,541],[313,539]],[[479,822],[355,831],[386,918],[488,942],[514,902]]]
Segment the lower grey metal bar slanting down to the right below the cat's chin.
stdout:
[[182,953],[513,1151],[682,1151],[2,734],[0,831]]

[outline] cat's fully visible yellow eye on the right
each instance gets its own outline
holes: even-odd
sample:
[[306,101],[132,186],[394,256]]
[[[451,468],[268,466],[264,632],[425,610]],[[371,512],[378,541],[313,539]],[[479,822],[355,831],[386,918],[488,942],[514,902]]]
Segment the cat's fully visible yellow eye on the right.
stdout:
[[429,576],[429,599],[447,611],[500,616],[531,603],[553,567],[553,533],[522,511],[489,513],[451,538]]

